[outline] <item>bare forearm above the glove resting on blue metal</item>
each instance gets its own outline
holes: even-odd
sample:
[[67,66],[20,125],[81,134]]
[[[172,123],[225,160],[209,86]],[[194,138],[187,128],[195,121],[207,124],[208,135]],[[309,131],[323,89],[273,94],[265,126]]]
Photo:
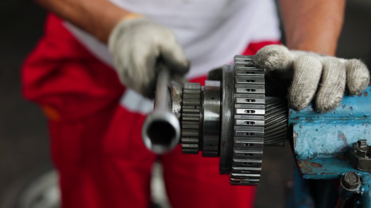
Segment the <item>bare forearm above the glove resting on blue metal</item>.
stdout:
[[335,55],[345,0],[280,0],[289,49]]

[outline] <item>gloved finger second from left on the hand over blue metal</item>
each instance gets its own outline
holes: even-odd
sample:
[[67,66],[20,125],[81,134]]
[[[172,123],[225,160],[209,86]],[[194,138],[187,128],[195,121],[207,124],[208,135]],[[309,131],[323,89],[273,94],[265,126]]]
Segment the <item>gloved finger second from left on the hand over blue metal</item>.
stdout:
[[313,99],[322,73],[322,64],[314,55],[303,55],[293,63],[294,74],[289,88],[289,103],[301,110]]

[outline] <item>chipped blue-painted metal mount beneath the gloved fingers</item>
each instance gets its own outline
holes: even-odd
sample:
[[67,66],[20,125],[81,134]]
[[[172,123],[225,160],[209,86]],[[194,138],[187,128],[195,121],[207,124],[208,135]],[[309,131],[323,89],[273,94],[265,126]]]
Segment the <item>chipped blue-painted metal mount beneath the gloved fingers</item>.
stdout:
[[[318,113],[313,105],[301,111],[290,109],[289,129],[299,174],[304,179],[339,179],[354,171],[362,185],[358,207],[371,207],[370,172],[353,168],[347,154],[360,139],[371,145],[371,87],[361,94],[344,96],[340,106],[329,113]],[[298,207],[299,205],[296,205]]]

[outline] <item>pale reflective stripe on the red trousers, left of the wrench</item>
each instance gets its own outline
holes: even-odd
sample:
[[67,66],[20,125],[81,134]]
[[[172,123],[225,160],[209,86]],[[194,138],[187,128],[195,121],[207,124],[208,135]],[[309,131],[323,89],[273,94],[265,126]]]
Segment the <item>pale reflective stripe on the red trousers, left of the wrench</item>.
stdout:
[[153,111],[154,102],[134,90],[127,89],[121,97],[120,104],[133,113],[148,114]]

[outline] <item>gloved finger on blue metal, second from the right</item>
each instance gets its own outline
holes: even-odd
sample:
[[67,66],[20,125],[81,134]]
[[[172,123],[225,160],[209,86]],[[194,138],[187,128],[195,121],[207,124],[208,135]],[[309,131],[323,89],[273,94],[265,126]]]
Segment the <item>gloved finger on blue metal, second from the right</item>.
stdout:
[[328,112],[339,106],[345,91],[346,71],[344,64],[329,59],[323,64],[322,83],[316,95],[316,110]]

